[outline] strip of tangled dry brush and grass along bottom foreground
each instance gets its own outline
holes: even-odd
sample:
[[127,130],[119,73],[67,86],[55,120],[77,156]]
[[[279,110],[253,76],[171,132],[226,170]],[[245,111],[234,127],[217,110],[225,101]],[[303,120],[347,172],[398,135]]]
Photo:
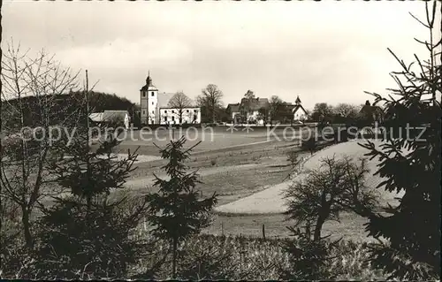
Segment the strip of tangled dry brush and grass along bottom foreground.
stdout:
[[[167,250],[166,242],[157,242],[156,249]],[[280,279],[385,279],[385,273],[375,271],[367,262],[370,244],[341,240],[322,245],[307,243],[293,238],[267,239],[243,236],[215,236],[201,234],[187,238],[179,248],[177,278],[179,279],[226,279],[226,280],[280,280]],[[295,258],[287,248],[293,246],[304,250],[302,260]],[[314,261],[327,248],[328,259],[319,261],[316,268],[307,263]],[[149,264],[149,263],[148,263]],[[169,276],[171,265],[164,263],[156,279]],[[315,271],[313,271],[315,270]],[[296,275],[294,271],[296,272]],[[143,277],[141,277],[143,278]]]

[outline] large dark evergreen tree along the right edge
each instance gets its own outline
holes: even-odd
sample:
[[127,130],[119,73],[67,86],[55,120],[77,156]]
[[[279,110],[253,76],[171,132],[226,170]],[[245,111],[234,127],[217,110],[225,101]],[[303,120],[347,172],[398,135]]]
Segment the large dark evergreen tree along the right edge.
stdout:
[[[421,61],[415,56],[420,73],[412,70],[392,51],[402,71],[393,72],[399,85],[389,98],[376,96],[385,105],[384,144],[377,148],[368,141],[368,156],[379,157],[377,174],[386,180],[379,184],[388,191],[404,192],[400,205],[389,214],[370,213],[370,236],[384,237],[387,244],[373,249],[372,263],[402,279],[440,277],[440,131],[442,114],[436,95],[442,91],[440,59],[436,52],[441,41],[434,42],[437,2],[426,4],[430,41],[421,42],[431,57]],[[442,9],[442,7],[441,7]],[[442,11],[442,10],[441,10]],[[418,41],[418,40],[417,40]],[[420,42],[420,41],[418,41]],[[440,53],[438,53],[440,55]],[[410,130],[410,127],[412,128]],[[407,149],[404,154],[401,149]]]

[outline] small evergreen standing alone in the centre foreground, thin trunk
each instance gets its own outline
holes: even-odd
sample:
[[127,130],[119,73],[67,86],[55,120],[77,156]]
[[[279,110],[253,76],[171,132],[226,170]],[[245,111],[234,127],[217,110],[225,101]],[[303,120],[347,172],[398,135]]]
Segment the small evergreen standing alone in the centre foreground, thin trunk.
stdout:
[[159,187],[159,191],[147,196],[149,224],[154,227],[152,233],[157,238],[168,240],[171,245],[172,278],[176,278],[179,243],[210,224],[211,210],[217,203],[217,194],[202,198],[201,192],[195,189],[200,183],[196,171],[186,172],[184,162],[194,147],[183,149],[185,141],[183,136],[160,149],[161,156],[169,159],[162,168],[170,179],[159,179],[154,174],[154,186]]

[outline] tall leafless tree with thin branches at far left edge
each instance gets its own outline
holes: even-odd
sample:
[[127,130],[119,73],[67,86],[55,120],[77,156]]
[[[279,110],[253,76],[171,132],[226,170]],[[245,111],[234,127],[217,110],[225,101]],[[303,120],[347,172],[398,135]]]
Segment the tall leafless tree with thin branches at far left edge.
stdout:
[[3,55],[2,134],[7,141],[1,153],[1,197],[19,206],[24,239],[31,247],[30,216],[50,183],[46,165],[56,157],[51,148],[57,140],[50,133],[53,126],[65,129],[79,121],[80,112],[66,111],[71,105],[65,95],[60,97],[78,87],[79,72],[72,74],[44,50],[28,57],[12,41]]

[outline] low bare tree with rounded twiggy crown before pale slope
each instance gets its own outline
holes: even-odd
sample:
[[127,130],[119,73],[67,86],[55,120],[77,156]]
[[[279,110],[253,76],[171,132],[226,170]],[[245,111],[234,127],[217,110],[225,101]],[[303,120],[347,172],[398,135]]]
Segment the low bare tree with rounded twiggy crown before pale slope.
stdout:
[[321,163],[286,191],[286,216],[295,221],[295,227],[315,223],[313,240],[321,240],[325,221],[339,220],[339,212],[366,213],[377,204],[377,194],[364,183],[370,172],[366,159],[356,164],[351,158],[337,160],[333,156]]

